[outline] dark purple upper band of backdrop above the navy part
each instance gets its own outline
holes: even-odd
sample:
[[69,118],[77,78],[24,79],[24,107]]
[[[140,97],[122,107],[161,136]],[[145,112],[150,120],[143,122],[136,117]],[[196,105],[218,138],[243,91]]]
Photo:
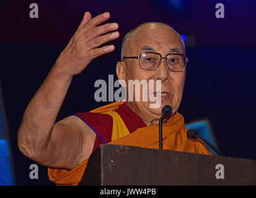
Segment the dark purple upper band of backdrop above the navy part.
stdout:
[[[184,0],[183,0],[184,1]],[[186,1],[186,0],[185,0]],[[190,1],[190,0],[187,0]],[[29,5],[36,2],[39,18],[30,19]],[[82,20],[84,12],[92,16],[108,11],[110,22],[118,22],[121,37],[143,22],[158,21],[172,25],[182,34],[193,34],[197,46],[255,46],[255,1],[192,0],[192,9],[182,14],[167,11],[149,1],[6,1],[1,4],[4,31],[0,41],[27,43],[67,43]],[[215,5],[222,2],[225,18],[216,19]],[[1,24],[2,24],[1,23]]]

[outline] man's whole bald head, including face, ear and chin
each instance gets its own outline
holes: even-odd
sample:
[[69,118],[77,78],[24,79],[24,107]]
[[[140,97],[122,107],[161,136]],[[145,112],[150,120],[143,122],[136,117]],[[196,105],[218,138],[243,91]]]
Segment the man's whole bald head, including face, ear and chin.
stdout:
[[[162,108],[165,105],[170,105],[172,106],[173,113],[175,113],[182,100],[185,82],[185,67],[183,67],[185,66],[185,62],[182,61],[184,57],[180,55],[168,56],[169,58],[174,57],[169,59],[169,62],[167,62],[166,58],[168,54],[185,53],[183,40],[179,33],[169,25],[148,22],[139,25],[125,35],[122,49],[121,61],[117,63],[117,76],[119,80],[125,81],[126,85],[128,85],[126,86],[126,93],[128,93],[127,98],[133,97],[133,100],[126,101],[126,105],[138,114],[147,125],[158,124],[162,114]],[[141,67],[141,59],[137,59],[137,56],[143,52],[161,54],[162,58],[166,59],[166,61],[160,60],[155,69],[144,69]],[[125,61],[123,60],[124,56],[126,56]],[[182,59],[178,57],[182,57]],[[142,59],[142,61],[144,61],[142,62],[144,64],[151,62],[155,64],[158,59],[156,56],[150,56],[146,59]],[[168,64],[173,64],[184,69],[174,72],[170,70]],[[134,86],[129,85],[130,80],[133,80],[133,82],[135,80],[138,80],[138,82],[146,81],[148,85],[149,82],[154,82],[154,86],[152,87],[154,88],[154,92],[149,90],[145,91],[144,88],[140,88],[139,93],[135,93],[136,88],[131,88]],[[160,93],[156,90],[157,80],[161,82],[161,95],[159,95]],[[148,85],[146,87],[148,87]],[[131,93],[129,90],[131,90]],[[148,95],[148,98],[152,95],[156,95],[156,97],[161,100],[161,106],[159,108],[151,108],[152,101],[150,101],[150,99],[136,101],[135,95],[139,95],[140,98],[146,98],[144,97],[145,95]]]

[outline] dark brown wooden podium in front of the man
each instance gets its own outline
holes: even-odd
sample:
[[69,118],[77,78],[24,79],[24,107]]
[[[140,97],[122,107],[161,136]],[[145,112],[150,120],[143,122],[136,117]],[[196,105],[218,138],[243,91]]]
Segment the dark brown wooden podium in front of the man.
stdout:
[[[216,178],[218,164],[224,179]],[[79,185],[256,185],[256,161],[105,144],[90,156]]]

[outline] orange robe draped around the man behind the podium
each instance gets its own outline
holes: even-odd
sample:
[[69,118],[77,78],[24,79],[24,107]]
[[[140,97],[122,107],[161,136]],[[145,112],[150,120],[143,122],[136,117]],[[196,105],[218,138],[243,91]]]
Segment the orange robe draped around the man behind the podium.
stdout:
[[[109,110],[117,110],[118,106],[124,102],[115,102],[97,108],[92,113],[105,113]],[[167,123],[162,124],[162,142],[163,149],[176,150],[180,152],[201,153],[212,155],[210,150],[200,139],[188,139],[187,128],[184,119],[178,112],[175,113]],[[112,140],[108,144],[130,145],[135,147],[143,147],[150,149],[159,149],[159,126],[151,125],[139,127],[136,131],[119,139]],[[48,176],[50,181],[58,185],[77,185],[81,181],[82,175],[86,170],[87,160],[76,166],[73,170],[64,170],[60,168],[48,168]]]

